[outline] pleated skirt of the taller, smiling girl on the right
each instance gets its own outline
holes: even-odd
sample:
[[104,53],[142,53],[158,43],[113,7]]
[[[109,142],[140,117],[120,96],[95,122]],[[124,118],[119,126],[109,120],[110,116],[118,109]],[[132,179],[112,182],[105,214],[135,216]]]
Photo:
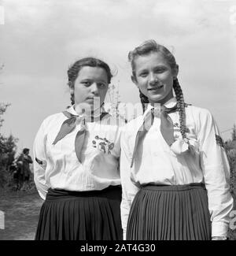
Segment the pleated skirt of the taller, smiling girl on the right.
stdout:
[[138,191],[127,222],[128,240],[209,240],[204,184],[148,185]]

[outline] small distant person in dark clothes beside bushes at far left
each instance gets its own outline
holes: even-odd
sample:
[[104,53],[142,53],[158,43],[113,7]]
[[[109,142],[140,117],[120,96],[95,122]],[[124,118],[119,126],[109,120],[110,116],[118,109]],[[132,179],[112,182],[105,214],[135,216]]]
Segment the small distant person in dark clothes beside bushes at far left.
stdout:
[[19,181],[19,189],[26,189],[31,176],[30,164],[33,163],[29,155],[29,149],[24,148],[20,157],[17,158],[17,176]]

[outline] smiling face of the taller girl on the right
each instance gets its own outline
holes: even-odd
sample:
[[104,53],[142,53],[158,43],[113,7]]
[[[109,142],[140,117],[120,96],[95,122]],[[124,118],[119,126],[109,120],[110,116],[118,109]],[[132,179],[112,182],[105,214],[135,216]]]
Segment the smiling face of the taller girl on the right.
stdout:
[[135,58],[135,76],[131,79],[151,104],[164,104],[173,97],[173,79],[177,75],[178,66],[171,70],[163,54],[151,52]]

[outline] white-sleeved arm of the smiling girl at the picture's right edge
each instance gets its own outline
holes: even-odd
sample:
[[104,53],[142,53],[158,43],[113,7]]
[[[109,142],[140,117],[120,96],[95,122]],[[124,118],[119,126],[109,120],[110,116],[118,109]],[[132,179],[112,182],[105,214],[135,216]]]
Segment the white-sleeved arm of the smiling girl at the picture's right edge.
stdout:
[[[205,109],[204,109],[205,110]],[[229,214],[233,208],[230,195],[230,168],[219,130],[212,114],[201,111],[198,119],[201,168],[208,191],[208,207],[212,221],[212,237],[227,236]]]

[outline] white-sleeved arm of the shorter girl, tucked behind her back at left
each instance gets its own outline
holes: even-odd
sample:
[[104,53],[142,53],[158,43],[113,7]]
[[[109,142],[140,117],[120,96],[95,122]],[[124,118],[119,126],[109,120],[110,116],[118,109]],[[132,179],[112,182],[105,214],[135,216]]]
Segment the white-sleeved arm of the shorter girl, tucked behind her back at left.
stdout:
[[34,148],[34,180],[35,185],[39,191],[39,195],[45,200],[48,185],[46,184],[45,171],[46,171],[46,134],[44,122],[39,128],[39,132],[35,137]]

